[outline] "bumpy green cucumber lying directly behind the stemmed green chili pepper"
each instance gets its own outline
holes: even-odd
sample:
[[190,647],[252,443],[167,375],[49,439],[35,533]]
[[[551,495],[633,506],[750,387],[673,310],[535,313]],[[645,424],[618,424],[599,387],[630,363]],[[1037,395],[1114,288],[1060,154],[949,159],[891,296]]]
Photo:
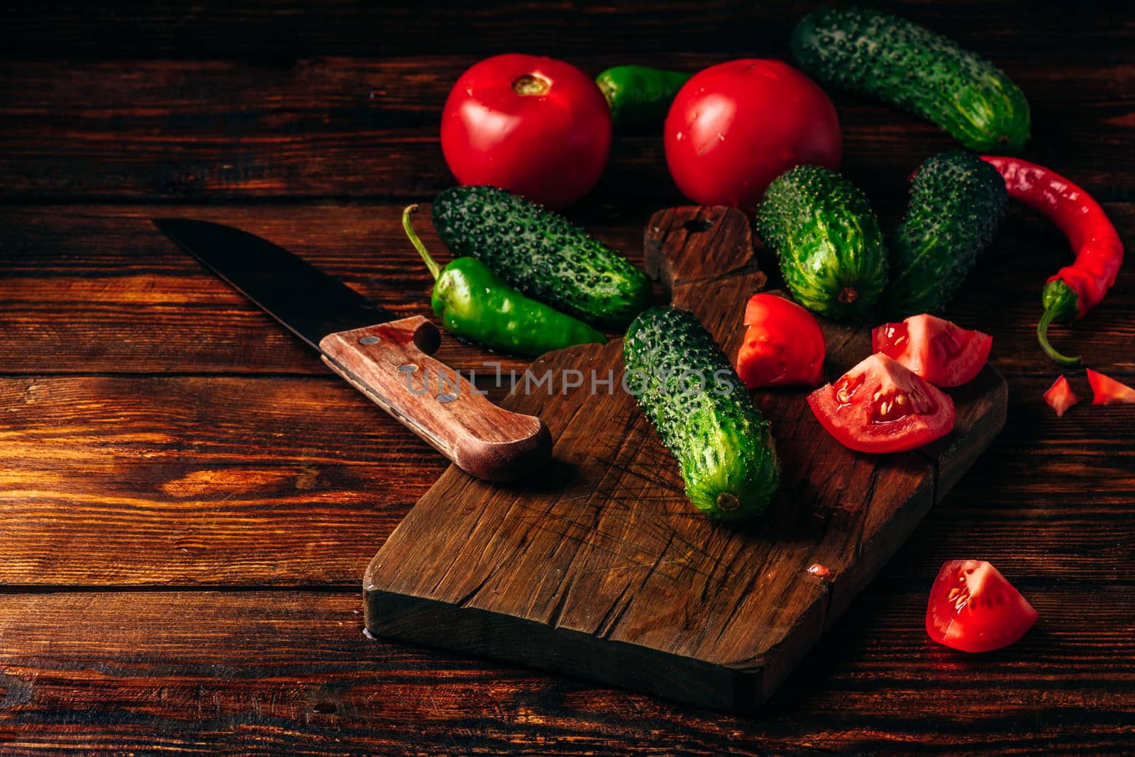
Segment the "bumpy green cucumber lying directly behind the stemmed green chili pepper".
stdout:
[[455,256],[472,255],[533,299],[597,326],[622,328],[650,304],[650,280],[558,213],[495,187],[453,187],[434,226]]

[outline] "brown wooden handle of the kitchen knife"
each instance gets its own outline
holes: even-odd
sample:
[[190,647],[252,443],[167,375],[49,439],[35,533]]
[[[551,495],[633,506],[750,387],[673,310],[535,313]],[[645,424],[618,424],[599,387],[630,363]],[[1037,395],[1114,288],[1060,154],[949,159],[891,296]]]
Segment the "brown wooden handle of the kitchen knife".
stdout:
[[462,470],[508,480],[552,457],[539,418],[510,412],[427,352],[440,341],[420,315],[328,334],[323,363]]

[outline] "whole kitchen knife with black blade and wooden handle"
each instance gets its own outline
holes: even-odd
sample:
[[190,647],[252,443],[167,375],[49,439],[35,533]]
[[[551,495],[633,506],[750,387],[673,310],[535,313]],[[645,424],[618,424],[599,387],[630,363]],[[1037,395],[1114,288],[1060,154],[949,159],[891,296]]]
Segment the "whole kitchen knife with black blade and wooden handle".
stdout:
[[190,219],[153,219],[153,224],[466,473],[508,480],[550,457],[543,420],[498,408],[429,357],[440,334],[427,318],[395,320],[342,281],[247,231]]

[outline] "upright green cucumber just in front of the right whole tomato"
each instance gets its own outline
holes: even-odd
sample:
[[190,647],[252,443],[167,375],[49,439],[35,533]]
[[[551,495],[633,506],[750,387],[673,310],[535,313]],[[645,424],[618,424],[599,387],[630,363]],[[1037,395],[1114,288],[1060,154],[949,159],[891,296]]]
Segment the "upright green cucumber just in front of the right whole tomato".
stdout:
[[865,315],[886,286],[886,249],[867,196],[835,171],[798,165],[757,206],[757,233],[780,257],[784,282],[809,311]]

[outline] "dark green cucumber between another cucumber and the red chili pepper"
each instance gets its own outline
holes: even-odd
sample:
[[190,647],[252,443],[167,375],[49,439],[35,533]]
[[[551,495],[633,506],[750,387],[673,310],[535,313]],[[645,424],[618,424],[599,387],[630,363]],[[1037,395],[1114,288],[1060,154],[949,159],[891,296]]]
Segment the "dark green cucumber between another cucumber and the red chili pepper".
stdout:
[[941,313],[993,240],[1008,202],[1004,179],[977,155],[956,150],[927,159],[891,237],[890,313]]

